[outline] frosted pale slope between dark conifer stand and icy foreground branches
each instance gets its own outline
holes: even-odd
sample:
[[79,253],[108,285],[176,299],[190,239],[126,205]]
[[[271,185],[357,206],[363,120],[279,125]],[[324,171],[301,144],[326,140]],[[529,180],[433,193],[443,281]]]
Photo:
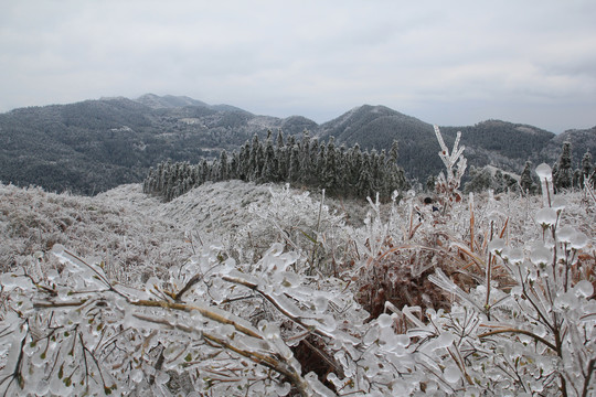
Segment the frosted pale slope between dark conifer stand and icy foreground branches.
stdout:
[[[308,192],[241,181],[206,183],[169,203],[143,194],[140,184],[95,197],[0,184],[0,197],[3,271],[62,244],[83,257],[99,258],[110,276],[129,281],[184,261],[203,244],[224,244],[243,259],[244,254],[260,255],[276,240],[304,239],[299,227],[312,229],[319,222],[321,230],[330,229],[343,219],[327,205],[320,208],[321,198]],[[360,216],[364,205],[355,208],[352,203],[351,213]]]

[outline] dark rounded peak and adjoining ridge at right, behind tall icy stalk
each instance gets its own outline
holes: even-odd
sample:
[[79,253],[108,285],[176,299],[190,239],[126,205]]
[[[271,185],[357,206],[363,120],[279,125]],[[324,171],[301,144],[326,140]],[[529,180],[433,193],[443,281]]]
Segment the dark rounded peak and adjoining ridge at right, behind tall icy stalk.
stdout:
[[[465,155],[475,167],[494,165],[509,172],[521,172],[526,160],[551,159],[541,150],[554,141],[555,135],[540,128],[501,120],[487,120],[475,126],[440,127],[446,144],[451,148],[457,131]],[[572,135],[574,135],[573,132]],[[338,144],[359,143],[363,149],[389,150],[398,142],[398,162],[411,178],[423,181],[437,174],[444,165],[436,155],[439,144],[432,125],[403,115],[385,106],[364,105],[320,126],[322,138],[333,136]],[[558,142],[554,141],[554,143]],[[556,153],[558,153],[561,144]],[[558,154],[557,154],[558,155]]]

